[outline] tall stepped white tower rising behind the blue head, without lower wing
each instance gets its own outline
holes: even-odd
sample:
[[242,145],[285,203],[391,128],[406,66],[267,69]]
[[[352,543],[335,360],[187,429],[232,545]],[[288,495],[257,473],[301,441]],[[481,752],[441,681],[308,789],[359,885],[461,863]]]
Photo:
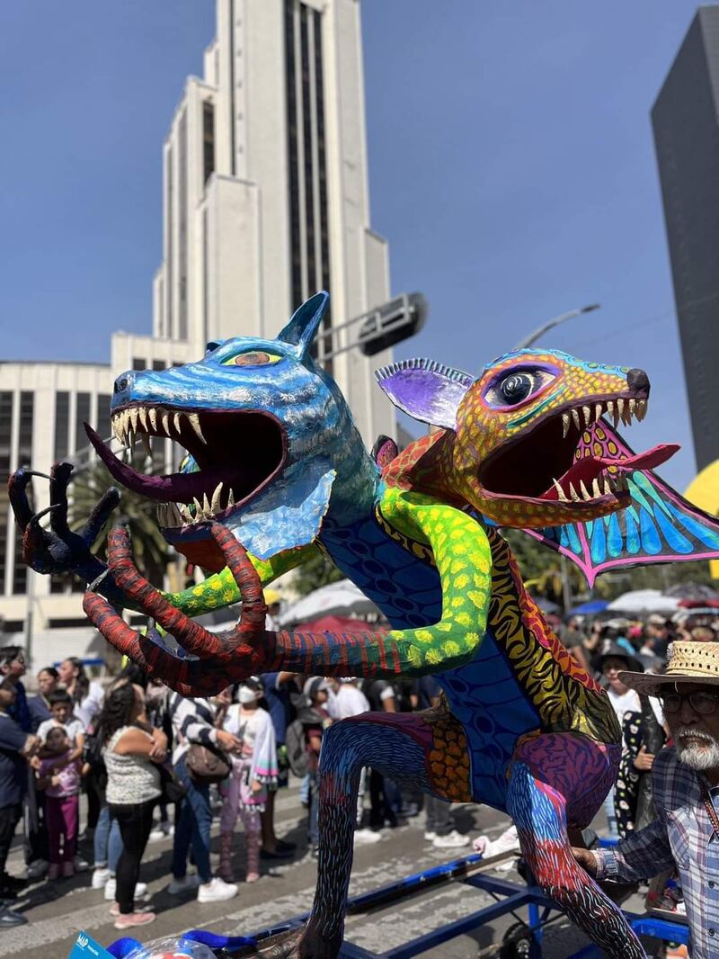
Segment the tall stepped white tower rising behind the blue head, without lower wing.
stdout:
[[[317,290],[331,334],[389,298],[387,245],[370,229],[357,0],[218,0],[204,76],[191,77],[163,155],[163,262],[153,334],[201,356],[210,339],[272,338]],[[393,433],[372,371],[326,365],[365,442]]]

